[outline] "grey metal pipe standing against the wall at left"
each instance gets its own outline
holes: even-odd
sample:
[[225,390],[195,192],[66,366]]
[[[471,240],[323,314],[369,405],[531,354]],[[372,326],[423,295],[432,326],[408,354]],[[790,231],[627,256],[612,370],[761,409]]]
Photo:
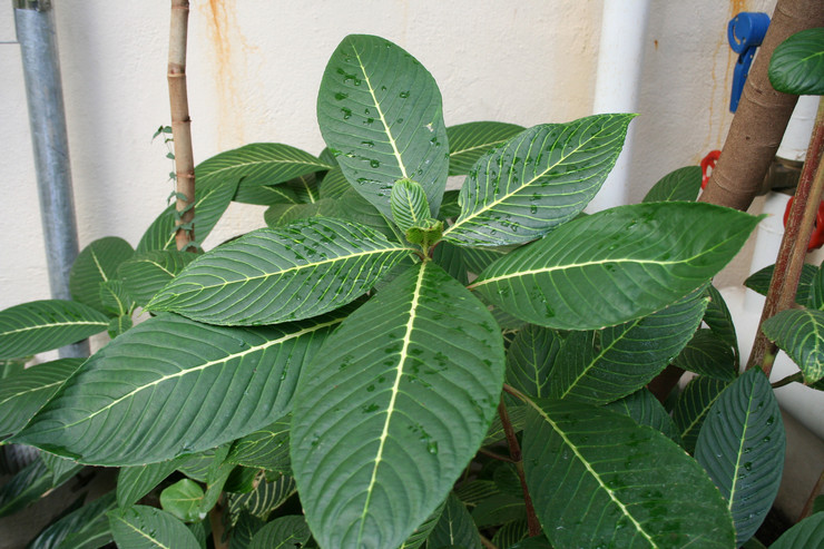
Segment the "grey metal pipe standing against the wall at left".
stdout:
[[[51,296],[70,300],[69,271],[78,254],[60,61],[51,0],[12,0],[29,104],[29,124],[40,197]],[[60,356],[88,356],[88,342]]]

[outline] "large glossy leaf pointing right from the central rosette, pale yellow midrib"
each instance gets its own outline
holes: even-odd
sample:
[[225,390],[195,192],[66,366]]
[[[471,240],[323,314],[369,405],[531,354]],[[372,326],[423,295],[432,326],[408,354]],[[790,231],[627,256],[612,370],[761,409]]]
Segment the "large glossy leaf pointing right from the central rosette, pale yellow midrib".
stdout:
[[757,223],[703,203],[620,206],[516,249],[470,288],[533,324],[597,330],[659,311],[704,285]]

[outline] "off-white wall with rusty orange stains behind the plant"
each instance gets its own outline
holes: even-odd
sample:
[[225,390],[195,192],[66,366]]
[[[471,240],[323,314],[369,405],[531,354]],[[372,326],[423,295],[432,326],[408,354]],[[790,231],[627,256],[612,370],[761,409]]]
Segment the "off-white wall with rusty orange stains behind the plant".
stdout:
[[[11,2],[0,42],[13,41]],[[168,124],[169,2],[56,2],[80,244],[137,244],[171,190],[154,130]],[[723,144],[734,12],[774,1],[654,0],[632,156],[639,199],[666,173]],[[447,124],[531,126],[591,111],[601,2],[192,0],[188,82],[197,160],[252,141],[317,154],[315,98],[328,56],[352,32],[408,49],[439,82]],[[48,298],[19,47],[0,43],[0,308]],[[206,242],[263,225],[233,206]]]

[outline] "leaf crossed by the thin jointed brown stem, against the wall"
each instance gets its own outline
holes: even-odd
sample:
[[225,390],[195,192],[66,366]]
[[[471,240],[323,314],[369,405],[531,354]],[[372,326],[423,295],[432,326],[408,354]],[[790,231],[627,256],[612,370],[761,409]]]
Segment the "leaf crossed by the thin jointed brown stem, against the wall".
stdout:
[[[220,216],[228,208],[237,190],[237,179],[212,177],[197,180],[195,186],[195,236],[203,242],[209,235]],[[151,222],[137,244],[137,252],[153,249],[176,249],[175,205],[168,206]]]

